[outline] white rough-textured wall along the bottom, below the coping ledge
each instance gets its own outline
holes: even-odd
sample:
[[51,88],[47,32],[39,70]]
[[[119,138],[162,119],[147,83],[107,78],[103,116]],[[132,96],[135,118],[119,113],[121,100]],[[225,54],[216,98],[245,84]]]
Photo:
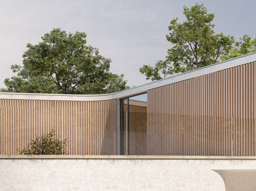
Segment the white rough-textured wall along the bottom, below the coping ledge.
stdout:
[[0,159],[0,190],[218,190],[211,169],[253,169],[256,160]]

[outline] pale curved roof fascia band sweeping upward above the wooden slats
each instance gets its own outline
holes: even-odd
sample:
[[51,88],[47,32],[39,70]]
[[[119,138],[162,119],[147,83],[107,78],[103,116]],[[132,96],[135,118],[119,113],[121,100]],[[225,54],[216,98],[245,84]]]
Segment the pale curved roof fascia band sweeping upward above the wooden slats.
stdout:
[[176,83],[179,81],[191,79],[216,71],[232,68],[246,63],[256,61],[256,52],[232,58],[226,61],[218,62],[199,69],[188,71],[182,74],[175,74],[168,78],[150,82],[134,88],[123,90],[120,92],[100,95],[70,95],[70,94],[35,94],[35,93],[1,93],[0,99],[26,99],[26,100],[61,100],[61,101],[101,101],[129,97],[139,93],[146,92],[149,89],[154,89],[164,85]]

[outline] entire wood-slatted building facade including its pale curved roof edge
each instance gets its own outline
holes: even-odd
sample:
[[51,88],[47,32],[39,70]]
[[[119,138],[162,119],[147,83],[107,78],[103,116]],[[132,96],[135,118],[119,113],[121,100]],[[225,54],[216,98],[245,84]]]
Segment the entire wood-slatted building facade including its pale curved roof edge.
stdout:
[[[54,129],[69,154],[255,156],[255,61],[251,53],[105,95],[0,93],[0,154]],[[120,107],[142,93],[147,107]]]

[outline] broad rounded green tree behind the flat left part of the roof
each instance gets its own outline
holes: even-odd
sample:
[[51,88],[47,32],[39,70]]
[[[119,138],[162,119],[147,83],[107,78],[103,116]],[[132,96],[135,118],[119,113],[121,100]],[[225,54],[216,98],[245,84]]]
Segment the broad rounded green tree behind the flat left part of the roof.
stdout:
[[59,28],[37,45],[27,44],[23,66],[12,65],[16,76],[4,80],[2,92],[103,94],[129,88],[123,74],[109,72],[110,59],[86,46],[86,34]]

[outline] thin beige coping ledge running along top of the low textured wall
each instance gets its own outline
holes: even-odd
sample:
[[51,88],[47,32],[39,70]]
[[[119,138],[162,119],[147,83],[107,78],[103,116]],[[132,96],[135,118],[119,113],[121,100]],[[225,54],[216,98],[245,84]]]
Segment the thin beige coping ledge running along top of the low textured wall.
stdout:
[[0,155],[0,159],[124,159],[124,160],[256,160],[256,156],[180,156],[180,155]]

